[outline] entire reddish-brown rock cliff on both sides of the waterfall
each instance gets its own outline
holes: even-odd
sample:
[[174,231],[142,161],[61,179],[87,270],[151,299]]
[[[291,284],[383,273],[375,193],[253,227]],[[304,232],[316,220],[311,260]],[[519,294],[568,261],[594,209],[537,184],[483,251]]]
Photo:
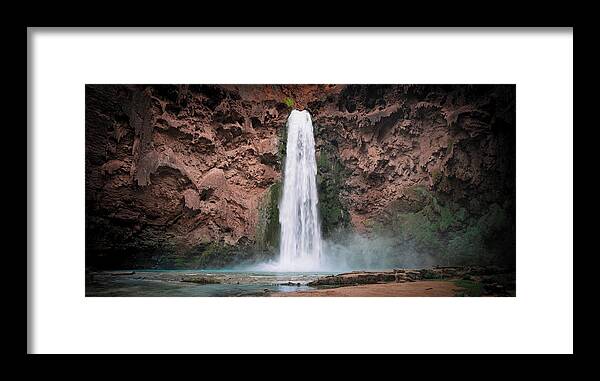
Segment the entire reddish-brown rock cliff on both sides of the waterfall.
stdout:
[[508,237],[511,258],[514,102],[512,85],[87,85],[87,264],[272,255],[292,103],[313,117],[326,237],[395,227],[452,258]]

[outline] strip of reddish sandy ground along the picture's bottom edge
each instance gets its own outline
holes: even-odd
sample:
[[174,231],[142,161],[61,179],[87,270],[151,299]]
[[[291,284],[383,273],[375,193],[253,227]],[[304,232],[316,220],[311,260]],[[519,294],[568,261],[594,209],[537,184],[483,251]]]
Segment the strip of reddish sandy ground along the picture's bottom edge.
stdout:
[[299,292],[278,292],[271,296],[456,296],[461,288],[453,282],[417,281],[378,283]]

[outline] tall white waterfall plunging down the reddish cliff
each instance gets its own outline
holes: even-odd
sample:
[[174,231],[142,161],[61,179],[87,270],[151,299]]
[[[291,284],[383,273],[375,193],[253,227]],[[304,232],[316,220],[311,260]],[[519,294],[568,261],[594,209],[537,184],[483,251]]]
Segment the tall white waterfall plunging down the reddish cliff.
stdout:
[[278,267],[282,271],[317,271],[321,267],[321,227],[315,138],[308,111],[291,112],[286,151]]

